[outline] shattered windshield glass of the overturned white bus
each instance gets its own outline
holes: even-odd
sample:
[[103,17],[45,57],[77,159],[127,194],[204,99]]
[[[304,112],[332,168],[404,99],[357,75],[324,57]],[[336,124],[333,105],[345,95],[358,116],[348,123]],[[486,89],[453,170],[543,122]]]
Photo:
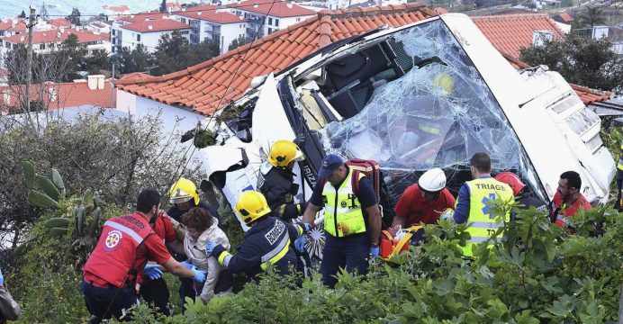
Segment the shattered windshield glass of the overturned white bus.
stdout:
[[[396,32],[387,43],[404,74],[392,77],[394,70],[400,72],[394,67],[375,75],[357,114],[319,131],[327,153],[379,162],[392,206],[432,167],[446,171],[456,193],[469,180],[469,158],[481,151],[489,153],[495,169],[519,170],[522,178],[535,181],[500,105],[443,22]],[[350,90],[357,102],[359,90]],[[333,105],[339,111],[339,104]],[[462,174],[455,176],[456,171]]]

